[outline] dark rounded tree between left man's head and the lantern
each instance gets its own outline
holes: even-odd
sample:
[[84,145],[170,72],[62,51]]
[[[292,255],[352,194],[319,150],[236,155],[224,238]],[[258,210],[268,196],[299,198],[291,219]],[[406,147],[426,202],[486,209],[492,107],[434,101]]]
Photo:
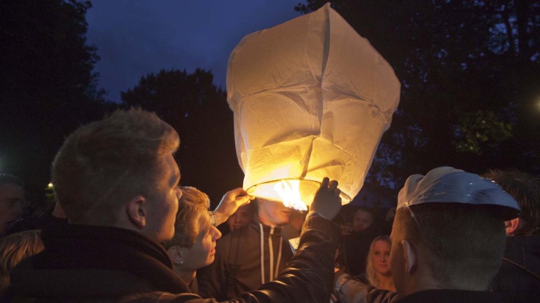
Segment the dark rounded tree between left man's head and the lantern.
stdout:
[[121,96],[124,106],[156,112],[177,130],[180,184],[206,192],[215,205],[227,190],[242,186],[244,174],[234,149],[233,114],[212,81],[212,73],[199,68],[191,74],[162,70]]

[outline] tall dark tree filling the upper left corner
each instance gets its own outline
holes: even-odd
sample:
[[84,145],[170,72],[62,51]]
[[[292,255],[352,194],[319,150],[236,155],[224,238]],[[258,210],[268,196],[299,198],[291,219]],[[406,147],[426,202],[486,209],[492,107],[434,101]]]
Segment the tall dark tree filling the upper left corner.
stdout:
[[0,5],[0,171],[44,201],[50,165],[66,135],[106,105],[86,45],[90,2],[3,1]]

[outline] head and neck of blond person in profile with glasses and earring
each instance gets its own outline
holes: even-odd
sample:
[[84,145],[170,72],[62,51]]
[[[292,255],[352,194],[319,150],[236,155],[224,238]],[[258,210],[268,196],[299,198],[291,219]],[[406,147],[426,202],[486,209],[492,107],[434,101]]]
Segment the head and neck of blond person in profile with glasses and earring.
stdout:
[[174,238],[163,246],[171,256],[173,270],[198,293],[195,274],[214,261],[215,242],[221,238],[221,232],[212,225],[210,198],[194,187],[180,190],[183,194],[178,201]]

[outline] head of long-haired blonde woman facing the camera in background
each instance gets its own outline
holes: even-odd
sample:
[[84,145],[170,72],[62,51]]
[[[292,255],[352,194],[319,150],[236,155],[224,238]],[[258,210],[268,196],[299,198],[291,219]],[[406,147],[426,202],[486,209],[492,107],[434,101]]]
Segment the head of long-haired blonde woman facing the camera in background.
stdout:
[[379,236],[373,240],[366,260],[366,280],[376,288],[395,292],[390,268],[391,248],[392,242],[388,236]]

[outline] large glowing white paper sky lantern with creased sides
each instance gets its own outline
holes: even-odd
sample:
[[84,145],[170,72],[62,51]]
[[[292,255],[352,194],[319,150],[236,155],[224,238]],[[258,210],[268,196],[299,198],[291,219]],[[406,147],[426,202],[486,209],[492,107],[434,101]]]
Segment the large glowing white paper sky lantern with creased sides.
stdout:
[[362,188],[400,96],[392,67],[326,4],[244,37],[227,69],[238,161],[252,195],[306,209],[323,177]]

